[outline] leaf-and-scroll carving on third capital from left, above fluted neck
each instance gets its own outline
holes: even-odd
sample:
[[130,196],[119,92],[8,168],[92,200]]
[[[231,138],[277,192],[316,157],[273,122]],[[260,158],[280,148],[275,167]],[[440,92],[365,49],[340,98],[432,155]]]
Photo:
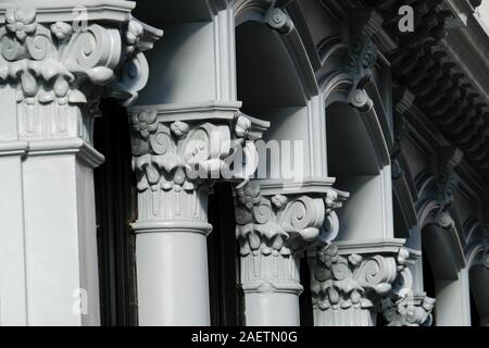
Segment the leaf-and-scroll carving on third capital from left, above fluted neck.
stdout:
[[260,185],[250,182],[236,190],[236,237],[242,257],[289,257],[321,243],[334,209],[348,195],[330,188],[325,197],[275,195],[262,197]]

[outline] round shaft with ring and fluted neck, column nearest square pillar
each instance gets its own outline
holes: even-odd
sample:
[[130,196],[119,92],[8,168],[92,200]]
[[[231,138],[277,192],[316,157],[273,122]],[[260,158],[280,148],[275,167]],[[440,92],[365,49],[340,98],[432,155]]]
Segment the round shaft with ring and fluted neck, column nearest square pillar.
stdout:
[[[148,192],[153,195],[168,202],[158,210],[174,216],[140,220],[133,225],[137,234],[139,325],[210,325],[206,236],[212,226],[205,221],[209,190]],[[140,212],[147,213],[142,209]]]

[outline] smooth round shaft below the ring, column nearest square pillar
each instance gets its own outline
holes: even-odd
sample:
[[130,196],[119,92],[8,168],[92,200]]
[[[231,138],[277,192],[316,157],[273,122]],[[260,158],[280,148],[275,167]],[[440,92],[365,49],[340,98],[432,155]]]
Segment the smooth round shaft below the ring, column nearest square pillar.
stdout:
[[203,234],[139,234],[136,240],[139,325],[210,325]]

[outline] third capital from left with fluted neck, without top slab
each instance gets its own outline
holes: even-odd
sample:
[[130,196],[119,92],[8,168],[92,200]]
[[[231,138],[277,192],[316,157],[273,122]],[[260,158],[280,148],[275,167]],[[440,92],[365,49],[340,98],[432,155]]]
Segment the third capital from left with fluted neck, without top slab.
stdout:
[[325,195],[263,197],[255,182],[238,187],[236,237],[243,290],[300,294],[299,256],[331,237],[331,229],[338,228],[334,209],[340,208],[347,197],[333,188]]

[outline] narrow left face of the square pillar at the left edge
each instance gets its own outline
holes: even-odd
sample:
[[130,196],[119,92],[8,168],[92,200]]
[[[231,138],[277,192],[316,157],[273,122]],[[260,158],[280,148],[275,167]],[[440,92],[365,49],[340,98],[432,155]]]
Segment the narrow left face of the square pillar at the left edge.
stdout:
[[27,324],[22,159],[28,144],[18,140],[15,97],[15,88],[0,84],[0,325]]

